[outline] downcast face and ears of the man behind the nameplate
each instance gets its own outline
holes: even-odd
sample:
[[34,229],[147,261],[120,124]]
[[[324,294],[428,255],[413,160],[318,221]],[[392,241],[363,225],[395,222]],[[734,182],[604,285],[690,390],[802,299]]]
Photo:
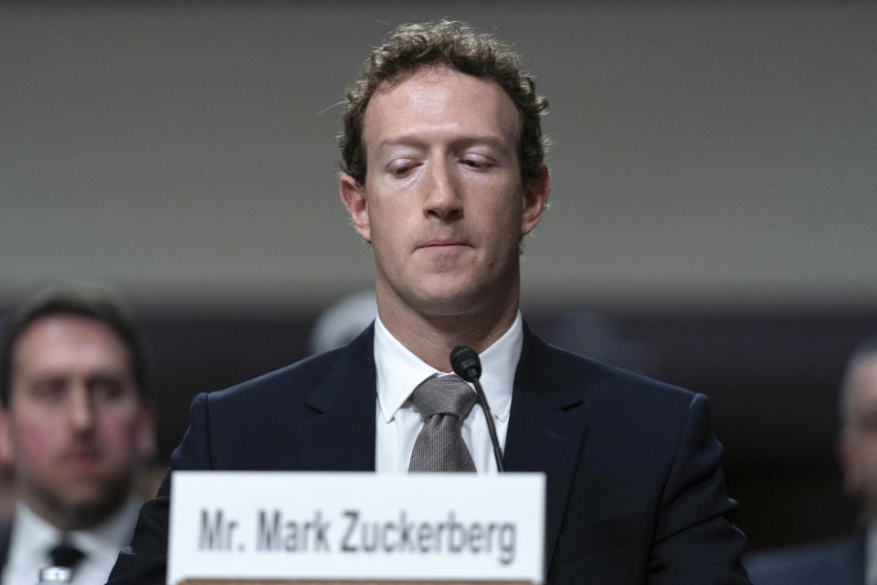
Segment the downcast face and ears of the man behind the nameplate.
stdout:
[[524,183],[512,99],[493,80],[421,68],[365,110],[365,186],[343,177],[354,227],[372,243],[383,310],[453,316],[517,303],[518,245],[550,190]]

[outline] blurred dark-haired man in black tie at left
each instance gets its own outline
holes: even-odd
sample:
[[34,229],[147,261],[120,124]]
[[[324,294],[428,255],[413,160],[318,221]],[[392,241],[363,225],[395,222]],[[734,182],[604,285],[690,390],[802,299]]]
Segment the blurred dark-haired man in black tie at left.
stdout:
[[140,337],[113,294],[68,285],[7,319],[0,360],[0,457],[17,498],[0,533],[2,583],[36,583],[48,566],[103,583],[137,518],[135,472],[154,452]]

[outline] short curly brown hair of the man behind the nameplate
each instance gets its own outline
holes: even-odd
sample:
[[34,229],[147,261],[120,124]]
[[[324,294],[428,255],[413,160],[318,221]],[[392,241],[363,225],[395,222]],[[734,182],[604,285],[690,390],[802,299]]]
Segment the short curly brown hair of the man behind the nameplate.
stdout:
[[394,84],[420,67],[447,65],[462,73],[489,78],[512,98],[521,119],[518,160],[523,180],[541,175],[546,140],[540,118],[548,101],[536,93],[533,78],[518,64],[518,57],[502,41],[466,23],[443,19],[436,23],[400,25],[365,59],[359,79],[345,93],[344,133],[338,139],[341,170],[365,184],[363,121],[365,108],[382,83]]

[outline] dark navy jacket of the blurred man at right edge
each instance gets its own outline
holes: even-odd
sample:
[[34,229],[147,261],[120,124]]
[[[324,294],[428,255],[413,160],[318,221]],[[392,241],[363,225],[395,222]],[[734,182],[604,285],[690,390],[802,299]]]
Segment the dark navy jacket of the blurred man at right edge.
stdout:
[[745,558],[755,585],[864,585],[865,537],[758,550]]

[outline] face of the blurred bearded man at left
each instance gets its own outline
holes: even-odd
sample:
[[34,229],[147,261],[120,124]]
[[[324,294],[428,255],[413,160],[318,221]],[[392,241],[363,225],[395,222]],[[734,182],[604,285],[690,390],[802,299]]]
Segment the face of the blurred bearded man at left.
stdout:
[[19,495],[59,527],[100,522],[153,454],[153,412],[127,346],[88,317],[40,317],[18,336],[4,419]]

